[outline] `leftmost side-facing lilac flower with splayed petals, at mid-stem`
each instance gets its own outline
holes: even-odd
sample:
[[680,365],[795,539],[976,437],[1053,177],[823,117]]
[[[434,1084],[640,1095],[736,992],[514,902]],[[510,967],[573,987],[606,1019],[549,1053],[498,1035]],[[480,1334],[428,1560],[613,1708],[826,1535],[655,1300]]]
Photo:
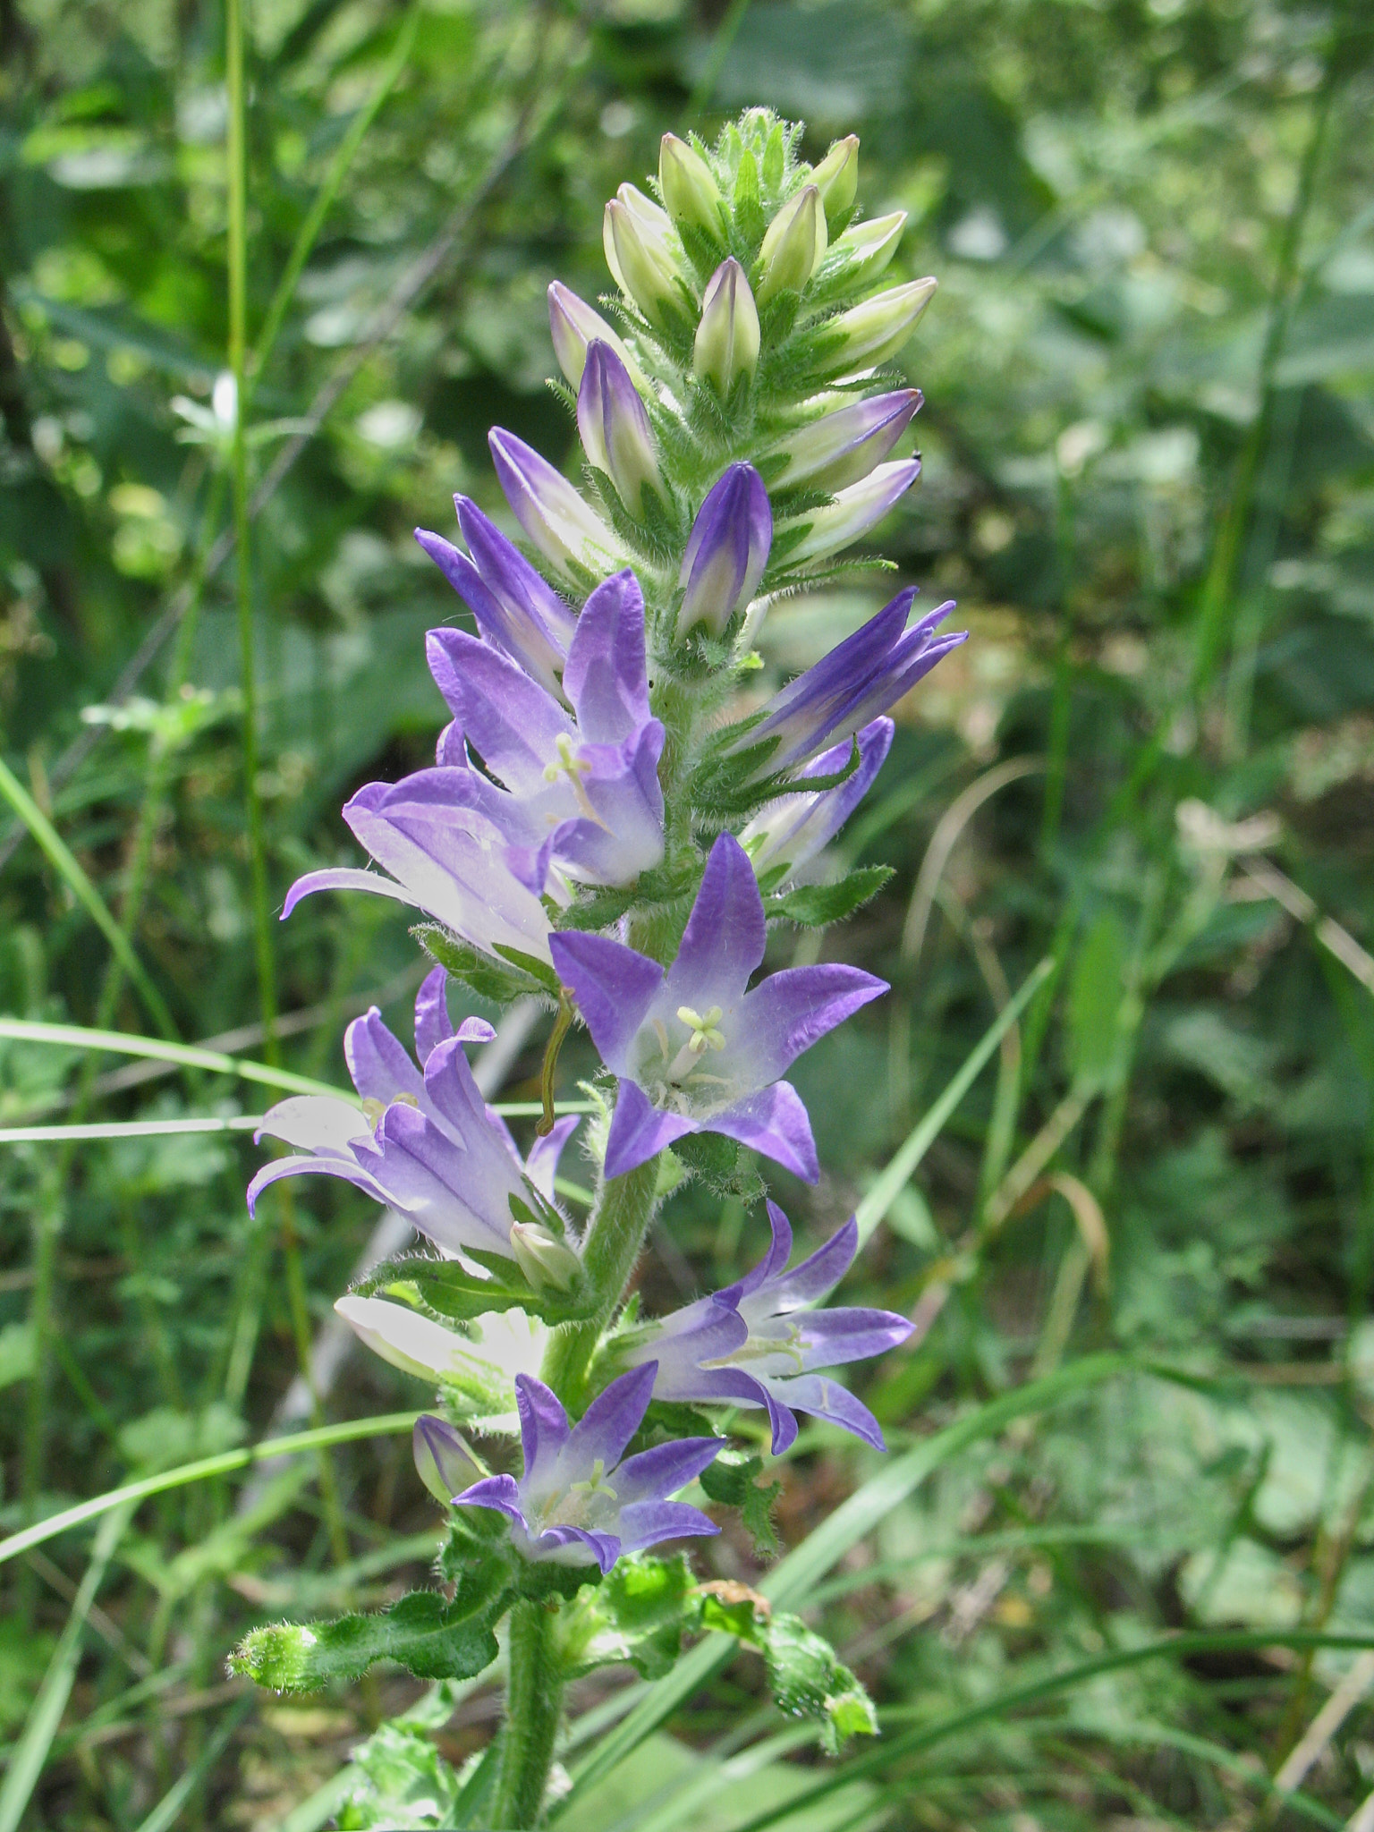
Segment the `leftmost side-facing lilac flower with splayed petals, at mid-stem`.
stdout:
[[344,1033],[344,1057],[363,1099],[297,1094],[264,1116],[269,1134],[299,1156],[266,1163],[247,1187],[249,1211],[269,1183],[322,1171],[357,1183],[394,1207],[445,1253],[485,1251],[513,1259],[511,1196],[529,1202],[533,1187],[553,1202],[559,1152],[577,1125],[559,1119],[535,1140],[522,1163],[506,1121],[482,1099],[463,1044],[489,1042],[484,1019],[454,1031],[445,1002],[447,975],[436,967],[416,995],[416,1055],[381,1022],[374,1006]]

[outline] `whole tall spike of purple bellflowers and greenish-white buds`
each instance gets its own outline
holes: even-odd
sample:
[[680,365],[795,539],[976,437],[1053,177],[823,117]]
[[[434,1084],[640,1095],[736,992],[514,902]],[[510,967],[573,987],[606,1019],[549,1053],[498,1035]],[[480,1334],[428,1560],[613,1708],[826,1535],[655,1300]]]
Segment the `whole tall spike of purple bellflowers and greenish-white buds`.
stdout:
[[[381,872],[311,872],[284,911],[352,889],[429,918],[418,934],[443,965],[416,1000],[418,1064],[376,1009],[354,1022],[357,1103],[275,1107],[264,1132],[291,1156],[258,1172],[249,1202],[324,1172],[438,1249],[339,1310],[436,1385],[454,1422],[485,1365],[487,1422],[518,1416],[522,1473],[476,1471],[454,1423],[429,1414],[416,1462],[463,1515],[504,1519],[493,1532],[522,1568],[594,1577],[714,1532],[672,1497],[709,1471],[736,1412],[764,1411],[773,1453],[795,1442],[799,1412],[881,1449],[830,1370],[911,1332],[889,1312],[824,1308],[856,1257],[854,1220],[788,1270],[773,1204],[747,1277],[661,1319],[627,1306],[674,1176],[749,1187],[747,1149],[819,1180],[788,1068],[887,987],[841,964],[766,971],[769,925],[834,920],[872,890],[872,874],[839,879],[815,916],[795,887],[878,777],[889,709],[964,639],[942,632],[951,605],[912,619],[903,590],[771,698],[749,698],[769,605],[830,577],[920,474],[901,456],[920,390],[881,365],[934,280],[872,291],[905,216],[859,218],[854,137],[817,165],[799,143],[762,110],[714,148],[667,136],[656,196],[621,185],[606,205],[617,291],[597,308],[550,288],[581,476],[496,429],[506,529],[458,496],[462,546],[416,533],[471,619],[427,643],[451,722],[432,768],[344,808]],[[546,1088],[568,1022],[590,1033],[606,1123],[588,1127],[583,1231],[555,1185],[577,1121],[548,1110],[520,1154],[467,1063],[491,1028],[454,1030],[451,976],[559,1002]],[[680,1434],[682,1407],[702,1434]]]

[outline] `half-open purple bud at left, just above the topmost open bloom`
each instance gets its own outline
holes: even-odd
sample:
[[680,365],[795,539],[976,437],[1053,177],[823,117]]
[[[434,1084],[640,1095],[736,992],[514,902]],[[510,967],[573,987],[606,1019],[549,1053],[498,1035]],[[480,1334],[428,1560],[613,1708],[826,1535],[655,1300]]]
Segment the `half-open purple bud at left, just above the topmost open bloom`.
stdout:
[[557,694],[577,627],[573,612],[474,502],[467,496],[453,502],[471,559],[425,528],[416,528],[416,540],[473,612],[485,639]]

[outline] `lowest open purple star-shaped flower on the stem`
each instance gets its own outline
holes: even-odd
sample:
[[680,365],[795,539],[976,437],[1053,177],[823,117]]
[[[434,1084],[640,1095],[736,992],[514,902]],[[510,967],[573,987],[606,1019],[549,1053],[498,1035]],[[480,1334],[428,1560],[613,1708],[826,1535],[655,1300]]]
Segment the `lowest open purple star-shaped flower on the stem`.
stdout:
[[[495,1508],[511,1522],[511,1541],[526,1559],[555,1565],[599,1565],[608,1572],[623,1552],[643,1552],[661,1539],[718,1533],[700,1508],[669,1500],[687,1488],[722,1449],[720,1438],[678,1438],[625,1462],[625,1445],[639,1429],[654,1390],[650,1361],[612,1381],[570,1429],[557,1396],[529,1374],[515,1376],[520,1409],[524,1475],[484,1477],[453,1495],[458,1508]],[[434,1422],[438,1423],[438,1422]],[[447,1434],[447,1427],[440,1425]],[[456,1438],[456,1434],[453,1434]],[[453,1447],[427,1433],[427,1455],[454,1467]]]

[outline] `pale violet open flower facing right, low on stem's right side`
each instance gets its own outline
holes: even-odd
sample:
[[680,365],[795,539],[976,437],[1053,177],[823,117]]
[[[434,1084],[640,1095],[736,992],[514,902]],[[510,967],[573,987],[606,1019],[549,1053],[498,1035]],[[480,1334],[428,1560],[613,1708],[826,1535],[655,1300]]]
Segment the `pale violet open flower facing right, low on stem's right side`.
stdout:
[[[630,1361],[656,1369],[658,1400],[768,1407],[775,1456],[793,1444],[797,1412],[843,1425],[876,1451],[887,1449],[868,1407],[817,1370],[881,1356],[905,1343],[912,1325],[890,1310],[812,1308],[854,1262],[859,1249],[854,1216],[791,1271],[788,1218],[775,1202],[768,1204],[768,1218],[773,1240],[758,1266],[738,1284],[665,1317],[658,1332],[647,1328],[630,1348]],[[705,1330],[713,1308],[733,1310],[744,1325],[738,1345],[725,1352]]]

